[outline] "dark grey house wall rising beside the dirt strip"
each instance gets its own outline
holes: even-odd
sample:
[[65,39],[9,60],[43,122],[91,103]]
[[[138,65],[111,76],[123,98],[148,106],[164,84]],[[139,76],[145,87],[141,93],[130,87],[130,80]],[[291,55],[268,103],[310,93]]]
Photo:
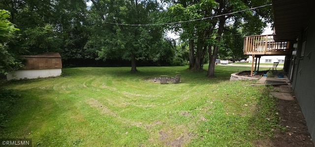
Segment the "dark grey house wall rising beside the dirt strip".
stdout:
[[[301,107],[302,113],[306,119],[308,130],[315,138],[315,19],[309,22],[307,38],[299,38],[296,61],[291,62],[295,64],[292,79],[292,89],[295,92],[298,103]],[[301,57],[302,44],[306,39],[304,57]]]

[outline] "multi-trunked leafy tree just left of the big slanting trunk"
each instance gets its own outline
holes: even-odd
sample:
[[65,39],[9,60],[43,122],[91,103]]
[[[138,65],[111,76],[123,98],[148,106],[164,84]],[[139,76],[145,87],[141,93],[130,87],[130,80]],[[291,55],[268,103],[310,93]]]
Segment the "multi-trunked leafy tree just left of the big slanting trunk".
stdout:
[[[187,20],[201,19],[209,17],[211,9],[216,4],[211,0],[193,0],[172,1],[176,3],[170,6],[167,13],[164,14],[162,21],[181,22]],[[210,13],[209,13],[210,12]],[[207,53],[207,43],[212,42],[213,38],[209,30],[213,23],[211,20],[188,21],[170,25],[171,29],[180,31],[180,37],[189,44],[189,69],[202,69],[203,59]]]

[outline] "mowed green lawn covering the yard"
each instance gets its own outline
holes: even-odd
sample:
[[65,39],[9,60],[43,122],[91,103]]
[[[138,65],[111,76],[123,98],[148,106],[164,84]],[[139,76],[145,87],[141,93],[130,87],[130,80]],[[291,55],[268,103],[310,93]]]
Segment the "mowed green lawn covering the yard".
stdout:
[[[215,78],[187,68],[63,68],[61,77],[8,82],[2,87],[22,97],[0,138],[31,138],[33,147],[251,147],[270,140],[278,121],[270,88],[229,81],[251,67],[216,66]],[[152,80],[176,74],[179,84]]]

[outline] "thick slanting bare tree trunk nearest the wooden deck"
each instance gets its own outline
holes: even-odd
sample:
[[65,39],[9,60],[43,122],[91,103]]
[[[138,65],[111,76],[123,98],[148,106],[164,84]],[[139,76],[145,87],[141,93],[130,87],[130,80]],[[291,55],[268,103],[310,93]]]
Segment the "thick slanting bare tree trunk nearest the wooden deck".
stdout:
[[[225,16],[220,17],[219,19],[219,28],[218,28],[218,36],[217,36],[217,42],[220,43],[221,41],[221,35],[223,33],[224,24],[225,24]],[[211,51],[211,46],[209,47]],[[219,52],[219,45],[216,44],[213,48],[213,53],[211,55],[211,52],[209,52],[209,68],[207,77],[214,77],[215,76],[215,65],[216,65],[216,59],[218,58],[218,52]]]

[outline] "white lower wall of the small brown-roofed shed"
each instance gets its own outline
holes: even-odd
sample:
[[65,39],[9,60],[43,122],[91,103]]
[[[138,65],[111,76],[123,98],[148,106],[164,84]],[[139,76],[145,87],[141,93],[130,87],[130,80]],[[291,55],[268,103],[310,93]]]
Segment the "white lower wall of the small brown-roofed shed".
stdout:
[[17,70],[15,73],[7,74],[6,79],[36,79],[36,78],[46,78],[46,77],[58,77],[61,75],[60,69],[32,69],[32,70]]

